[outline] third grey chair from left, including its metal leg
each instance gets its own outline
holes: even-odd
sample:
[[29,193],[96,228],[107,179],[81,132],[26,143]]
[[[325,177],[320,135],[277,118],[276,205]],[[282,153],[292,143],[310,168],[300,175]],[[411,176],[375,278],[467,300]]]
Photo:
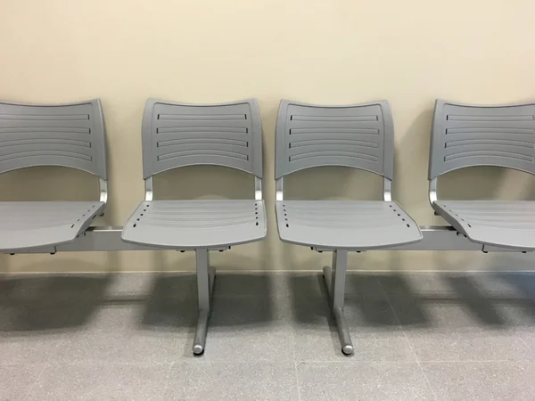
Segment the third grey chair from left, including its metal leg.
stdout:
[[[317,106],[281,102],[276,122],[276,218],[282,241],[333,251],[324,267],[342,352],[353,353],[343,315],[348,251],[385,249],[422,239],[415,221],[391,201],[394,132],[388,102]],[[287,201],[284,176],[344,166],[383,176],[383,201]]]

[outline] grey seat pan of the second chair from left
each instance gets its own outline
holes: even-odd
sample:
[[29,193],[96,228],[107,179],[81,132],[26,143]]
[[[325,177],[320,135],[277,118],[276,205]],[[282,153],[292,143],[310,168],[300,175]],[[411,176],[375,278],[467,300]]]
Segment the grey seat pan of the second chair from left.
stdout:
[[143,201],[123,241],[169,248],[231,246],[266,237],[264,201]]

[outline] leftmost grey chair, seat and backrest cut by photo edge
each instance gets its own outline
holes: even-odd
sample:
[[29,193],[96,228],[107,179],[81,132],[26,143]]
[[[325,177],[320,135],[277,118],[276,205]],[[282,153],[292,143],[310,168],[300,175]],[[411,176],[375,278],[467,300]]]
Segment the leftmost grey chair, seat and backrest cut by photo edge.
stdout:
[[2,201],[0,250],[15,253],[74,241],[107,201],[105,133],[99,100],[61,105],[0,102],[0,174],[61,166],[99,177],[100,201]]

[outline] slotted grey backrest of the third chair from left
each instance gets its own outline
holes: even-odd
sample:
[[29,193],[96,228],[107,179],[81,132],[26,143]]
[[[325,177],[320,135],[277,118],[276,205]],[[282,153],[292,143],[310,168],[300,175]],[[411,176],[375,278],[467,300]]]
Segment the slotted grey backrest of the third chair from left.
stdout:
[[394,127],[386,101],[320,106],[282,101],[276,121],[276,179],[319,166],[360,168],[392,179]]

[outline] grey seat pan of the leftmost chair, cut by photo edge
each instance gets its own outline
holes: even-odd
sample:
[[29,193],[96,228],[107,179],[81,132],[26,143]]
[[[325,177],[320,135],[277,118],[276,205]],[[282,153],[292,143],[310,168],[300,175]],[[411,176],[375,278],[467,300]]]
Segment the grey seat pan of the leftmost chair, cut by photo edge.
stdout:
[[74,241],[105,207],[100,201],[0,202],[0,250]]

